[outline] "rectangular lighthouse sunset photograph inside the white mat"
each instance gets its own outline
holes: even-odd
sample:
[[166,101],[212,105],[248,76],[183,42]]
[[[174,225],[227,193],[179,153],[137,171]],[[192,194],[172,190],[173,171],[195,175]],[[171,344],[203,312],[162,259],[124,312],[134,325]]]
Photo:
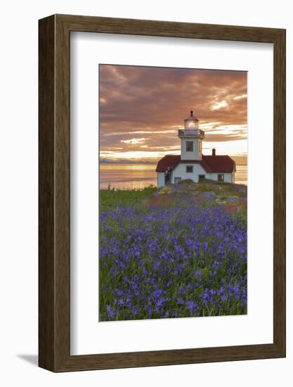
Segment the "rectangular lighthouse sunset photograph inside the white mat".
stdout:
[[100,322],[247,314],[247,72],[100,64]]

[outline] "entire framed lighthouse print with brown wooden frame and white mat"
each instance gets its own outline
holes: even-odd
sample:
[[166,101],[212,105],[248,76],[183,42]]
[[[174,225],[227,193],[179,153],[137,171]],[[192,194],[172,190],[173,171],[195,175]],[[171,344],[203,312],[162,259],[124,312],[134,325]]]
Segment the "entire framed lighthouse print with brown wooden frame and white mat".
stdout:
[[285,357],[285,30],[39,20],[39,366]]

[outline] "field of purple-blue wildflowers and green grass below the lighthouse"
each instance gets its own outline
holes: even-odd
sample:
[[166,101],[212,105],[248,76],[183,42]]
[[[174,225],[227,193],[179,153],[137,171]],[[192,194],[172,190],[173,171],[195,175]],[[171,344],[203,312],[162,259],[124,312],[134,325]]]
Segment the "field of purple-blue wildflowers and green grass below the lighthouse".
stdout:
[[246,204],[212,190],[100,191],[100,321],[247,313]]

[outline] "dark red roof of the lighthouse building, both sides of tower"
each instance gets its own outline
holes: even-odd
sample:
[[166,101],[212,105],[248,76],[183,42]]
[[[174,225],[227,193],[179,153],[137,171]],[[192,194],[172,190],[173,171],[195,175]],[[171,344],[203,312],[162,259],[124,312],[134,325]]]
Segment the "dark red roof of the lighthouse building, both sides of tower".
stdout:
[[181,160],[180,155],[167,155],[157,163],[156,172],[165,172],[168,168],[174,170],[179,163],[200,164],[207,173],[231,173],[236,170],[235,161],[230,156],[202,155],[202,160]]

